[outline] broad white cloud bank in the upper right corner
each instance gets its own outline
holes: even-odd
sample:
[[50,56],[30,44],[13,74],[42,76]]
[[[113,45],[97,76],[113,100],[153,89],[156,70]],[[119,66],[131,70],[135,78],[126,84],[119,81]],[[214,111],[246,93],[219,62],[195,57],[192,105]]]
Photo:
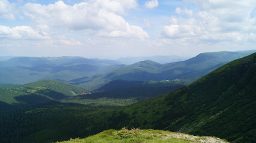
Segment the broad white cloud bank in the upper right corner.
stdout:
[[[161,36],[189,42],[252,42],[256,33],[256,1],[195,0],[200,11],[176,8]],[[189,17],[187,17],[188,15]]]

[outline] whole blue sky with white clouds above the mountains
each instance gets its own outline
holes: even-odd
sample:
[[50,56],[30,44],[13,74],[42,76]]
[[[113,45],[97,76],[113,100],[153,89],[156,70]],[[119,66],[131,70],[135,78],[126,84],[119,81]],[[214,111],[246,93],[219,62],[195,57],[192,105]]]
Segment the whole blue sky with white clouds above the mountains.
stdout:
[[255,43],[255,0],[0,0],[0,56],[192,57]]

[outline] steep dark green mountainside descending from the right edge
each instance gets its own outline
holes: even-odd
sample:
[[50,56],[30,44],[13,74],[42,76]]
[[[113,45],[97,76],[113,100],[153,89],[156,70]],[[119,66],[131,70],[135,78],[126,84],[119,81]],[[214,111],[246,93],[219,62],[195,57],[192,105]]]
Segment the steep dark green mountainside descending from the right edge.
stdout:
[[182,89],[134,104],[124,112],[137,111],[133,119],[137,119],[137,126],[141,128],[214,135],[231,142],[253,142],[256,135],[255,72],[256,54],[252,54]]

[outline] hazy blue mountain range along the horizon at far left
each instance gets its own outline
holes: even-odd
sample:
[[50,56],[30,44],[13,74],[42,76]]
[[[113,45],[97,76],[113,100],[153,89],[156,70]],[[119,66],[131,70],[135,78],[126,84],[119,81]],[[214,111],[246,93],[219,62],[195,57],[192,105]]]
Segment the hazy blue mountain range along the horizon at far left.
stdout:
[[14,57],[0,61],[0,82],[25,84],[42,79],[65,81],[103,74],[123,66],[118,61],[82,57]]

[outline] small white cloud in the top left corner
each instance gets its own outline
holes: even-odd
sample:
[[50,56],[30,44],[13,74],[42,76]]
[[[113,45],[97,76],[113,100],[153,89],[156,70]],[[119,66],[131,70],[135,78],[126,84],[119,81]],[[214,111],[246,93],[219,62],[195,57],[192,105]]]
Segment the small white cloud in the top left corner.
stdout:
[[13,14],[14,5],[10,4],[7,0],[0,1],[0,18],[6,18],[9,20],[14,20],[15,16]]

